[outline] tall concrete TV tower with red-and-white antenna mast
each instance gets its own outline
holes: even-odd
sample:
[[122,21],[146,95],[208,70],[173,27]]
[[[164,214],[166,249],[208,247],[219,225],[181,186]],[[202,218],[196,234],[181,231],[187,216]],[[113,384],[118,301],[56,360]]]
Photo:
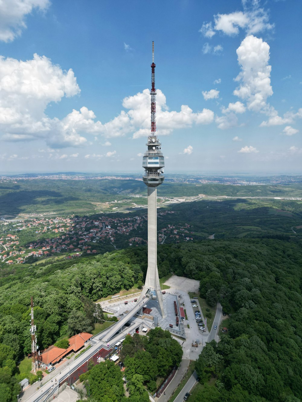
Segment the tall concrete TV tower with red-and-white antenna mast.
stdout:
[[143,182],[148,186],[148,269],[145,280],[145,287],[142,295],[157,297],[161,314],[163,312],[163,297],[159,285],[157,270],[157,211],[156,211],[156,187],[163,183],[163,167],[165,166],[161,143],[156,135],[155,124],[155,64],[154,64],[154,42],[152,42],[152,80],[151,80],[151,133],[148,136],[147,152],[143,156]]

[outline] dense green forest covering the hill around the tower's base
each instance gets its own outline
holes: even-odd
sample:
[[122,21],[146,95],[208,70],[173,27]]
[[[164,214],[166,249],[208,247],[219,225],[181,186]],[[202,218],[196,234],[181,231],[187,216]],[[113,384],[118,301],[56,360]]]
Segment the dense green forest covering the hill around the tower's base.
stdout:
[[[228,336],[212,349],[207,345],[199,359],[201,378],[212,376],[217,384],[210,387],[216,399],[206,396],[206,388],[203,400],[298,401],[302,397],[301,251],[299,241],[269,238],[158,247],[160,276],[173,272],[199,280],[201,296],[219,300],[231,313]],[[81,330],[93,328],[93,301],[129,289],[143,280],[146,270],[143,246],[2,271],[0,389],[12,400],[19,393],[18,361],[31,350],[31,295],[43,349],[72,330],[75,314],[81,318]]]

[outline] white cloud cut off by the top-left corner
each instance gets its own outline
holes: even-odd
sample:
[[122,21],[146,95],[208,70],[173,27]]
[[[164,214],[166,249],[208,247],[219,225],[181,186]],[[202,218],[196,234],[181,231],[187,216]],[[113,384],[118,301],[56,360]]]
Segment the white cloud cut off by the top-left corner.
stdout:
[[45,11],[49,5],[49,0],[1,0],[0,41],[10,42],[20,36],[26,28],[25,16],[34,8]]

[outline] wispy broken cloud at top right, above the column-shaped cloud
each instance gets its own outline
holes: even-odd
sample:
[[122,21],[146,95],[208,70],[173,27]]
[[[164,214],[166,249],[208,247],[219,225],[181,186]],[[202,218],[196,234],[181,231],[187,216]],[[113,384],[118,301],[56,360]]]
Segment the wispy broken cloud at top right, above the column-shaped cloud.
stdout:
[[243,29],[247,35],[272,30],[274,25],[269,23],[269,14],[259,6],[259,0],[242,0],[243,11],[230,14],[214,15],[214,27],[211,22],[203,23],[200,32],[207,38],[220,31],[225,35],[238,35]]

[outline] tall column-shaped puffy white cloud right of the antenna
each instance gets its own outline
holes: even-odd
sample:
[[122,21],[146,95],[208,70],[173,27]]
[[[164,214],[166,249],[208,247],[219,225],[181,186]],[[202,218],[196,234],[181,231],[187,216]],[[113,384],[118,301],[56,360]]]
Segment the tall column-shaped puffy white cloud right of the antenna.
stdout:
[[273,94],[271,88],[271,66],[269,61],[269,45],[253,35],[246,37],[237,49],[241,72],[235,78],[240,87],[234,95],[246,100],[248,109],[271,113],[266,100]]

